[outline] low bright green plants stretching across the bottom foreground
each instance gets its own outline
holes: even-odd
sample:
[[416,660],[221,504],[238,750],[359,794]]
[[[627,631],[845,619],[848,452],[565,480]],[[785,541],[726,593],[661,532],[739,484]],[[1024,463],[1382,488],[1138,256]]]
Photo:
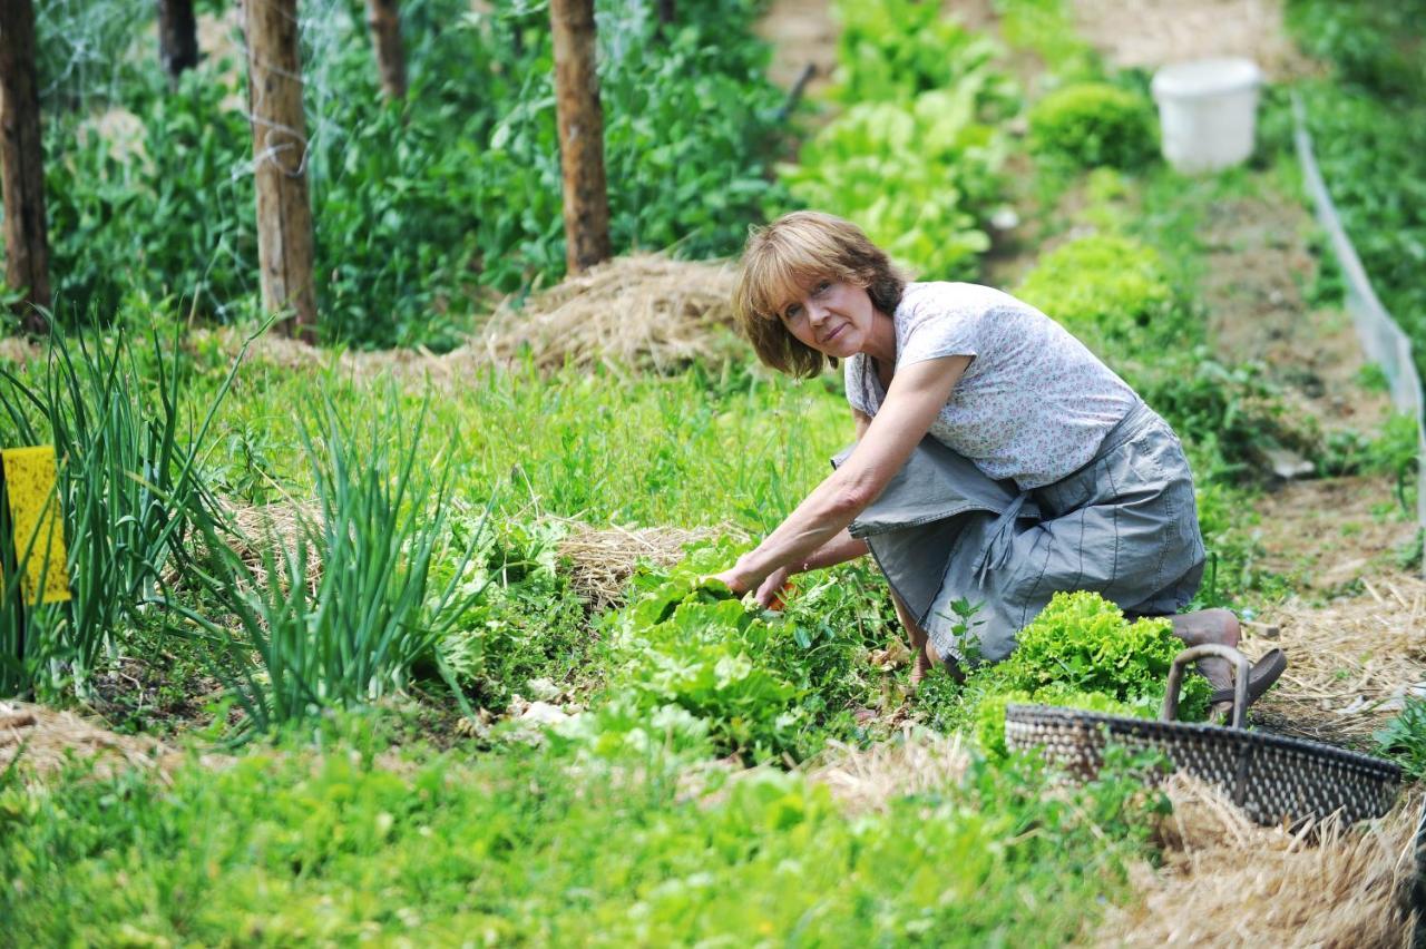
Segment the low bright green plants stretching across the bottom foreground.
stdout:
[[322,731],[171,781],[0,775],[7,935],[1054,946],[1128,895],[1161,801],[1119,765],[1071,789],[1012,762],[848,815],[801,774],[548,751],[388,769]]

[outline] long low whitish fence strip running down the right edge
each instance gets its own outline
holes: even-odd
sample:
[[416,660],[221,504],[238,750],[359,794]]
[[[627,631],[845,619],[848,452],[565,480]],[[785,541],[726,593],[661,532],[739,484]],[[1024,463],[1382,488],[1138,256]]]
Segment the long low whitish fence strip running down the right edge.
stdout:
[[[1328,191],[1326,181],[1322,180],[1322,170],[1312,151],[1306,108],[1298,93],[1292,94],[1292,115],[1302,177],[1308,194],[1312,195],[1312,202],[1316,205],[1318,221],[1326,231],[1338,266],[1342,269],[1342,281],[1346,286],[1345,304],[1356,325],[1362,349],[1366,351],[1366,358],[1380,365],[1386,373],[1392,405],[1396,406],[1396,410],[1406,412],[1416,419],[1416,523],[1419,527],[1426,527],[1426,477],[1423,477],[1426,474],[1426,427],[1422,422],[1422,380],[1412,358],[1412,341],[1376,296],[1366,268],[1362,266],[1362,258],[1358,256],[1352,239],[1346,235],[1346,228],[1342,227],[1342,218],[1338,215],[1332,194]],[[1426,573],[1426,557],[1422,560],[1422,570]]]

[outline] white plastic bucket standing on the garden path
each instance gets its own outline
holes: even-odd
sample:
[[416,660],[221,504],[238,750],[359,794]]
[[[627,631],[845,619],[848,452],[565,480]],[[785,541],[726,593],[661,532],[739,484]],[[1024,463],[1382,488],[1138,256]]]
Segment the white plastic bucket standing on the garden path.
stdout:
[[1178,171],[1216,171],[1252,154],[1262,73],[1249,60],[1195,60],[1154,74],[1164,157]]

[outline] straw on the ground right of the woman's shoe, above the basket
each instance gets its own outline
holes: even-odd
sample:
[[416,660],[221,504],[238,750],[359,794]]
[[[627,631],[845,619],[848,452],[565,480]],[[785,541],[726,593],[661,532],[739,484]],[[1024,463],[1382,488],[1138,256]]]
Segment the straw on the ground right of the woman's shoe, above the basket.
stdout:
[[1273,645],[1288,671],[1253,707],[1258,724],[1346,747],[1426,695],[1426,581],[1410,574],[1362,580],[1366,593],[1320,608],[1289,601],[1245,627],[1245,650]]

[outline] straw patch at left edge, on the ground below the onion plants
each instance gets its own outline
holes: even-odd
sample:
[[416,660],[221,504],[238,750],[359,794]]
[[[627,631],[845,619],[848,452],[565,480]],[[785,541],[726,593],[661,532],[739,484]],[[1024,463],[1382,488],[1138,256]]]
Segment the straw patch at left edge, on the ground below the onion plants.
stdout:
[[130,768],[171,769],[181,759],[160,741],[120,735],[73,712],[29,702],[0,702],[0,772],[17,755],[19,768],[40,775],[76,759],[93,758],[93,774],[106,778]]

